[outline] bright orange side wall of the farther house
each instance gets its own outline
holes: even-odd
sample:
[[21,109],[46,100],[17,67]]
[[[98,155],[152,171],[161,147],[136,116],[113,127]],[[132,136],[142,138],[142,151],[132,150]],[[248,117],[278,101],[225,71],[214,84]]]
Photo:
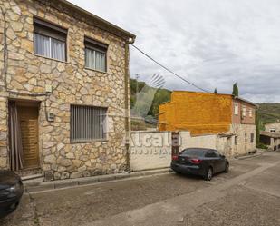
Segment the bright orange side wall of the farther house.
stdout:
[[174,91],[169,103],[159,105],[159,131],[223,133],[231,122],[232,96],[228,94]]

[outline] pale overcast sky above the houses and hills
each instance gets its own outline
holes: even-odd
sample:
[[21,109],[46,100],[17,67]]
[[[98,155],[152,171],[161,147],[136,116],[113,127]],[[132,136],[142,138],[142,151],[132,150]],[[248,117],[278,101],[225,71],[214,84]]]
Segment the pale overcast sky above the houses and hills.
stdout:
[[[70,0],[137,35],[135,45],[198,86],[280,102],[279,0]],[[130,76],[197,90],[130,47]]]

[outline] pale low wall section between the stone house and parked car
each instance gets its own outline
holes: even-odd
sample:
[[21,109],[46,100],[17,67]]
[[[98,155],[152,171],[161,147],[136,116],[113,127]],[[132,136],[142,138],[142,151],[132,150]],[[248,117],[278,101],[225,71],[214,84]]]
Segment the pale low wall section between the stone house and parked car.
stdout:
[[142,171],[169,167],[170,132],[132,132],[130,134],[130,170]]

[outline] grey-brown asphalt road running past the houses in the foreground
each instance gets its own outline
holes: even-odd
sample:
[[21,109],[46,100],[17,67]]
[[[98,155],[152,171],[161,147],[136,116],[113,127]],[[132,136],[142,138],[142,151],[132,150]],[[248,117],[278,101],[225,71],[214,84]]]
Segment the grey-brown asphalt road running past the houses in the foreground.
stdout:
[[231,162],[205,182],[173,173],[24,194],[18,225],[280,225],[280,152]]

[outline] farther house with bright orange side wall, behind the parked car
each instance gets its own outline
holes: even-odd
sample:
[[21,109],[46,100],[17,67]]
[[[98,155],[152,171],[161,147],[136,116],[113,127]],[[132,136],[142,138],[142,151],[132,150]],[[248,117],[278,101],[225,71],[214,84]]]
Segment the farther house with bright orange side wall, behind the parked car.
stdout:
[[159,131],[189,131],[201,142],[217,134],[217,149],[235,156],[256,149],[255,114],[254,103],[230,94],[174,91],[159,105]]

